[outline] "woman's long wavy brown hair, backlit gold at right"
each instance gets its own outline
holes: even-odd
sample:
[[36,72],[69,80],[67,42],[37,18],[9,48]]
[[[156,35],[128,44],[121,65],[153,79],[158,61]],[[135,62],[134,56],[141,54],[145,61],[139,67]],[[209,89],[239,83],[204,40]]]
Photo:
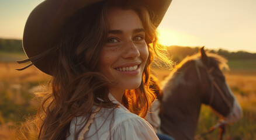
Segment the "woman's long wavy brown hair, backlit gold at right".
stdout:
[[[155,99],[150,89],[150,65],[154,56],[169,64],[165,48],[157,43],[154,13],[139,1],[98,2],[78,10],[64,25],[58,43],[59,57],[52,72],[51,92],[44,95],[37,111],[36,125],[39,139],[65,139],[74,117],[92,114],[92,106],[113,108],[108,98],[110,81],[98,72],[99,54],[108,34],[108,11],[113,7],[133,9],[146,30],[149,56],[143,71],[143,80],[137,89],[126,90],[122,104],[132,113],[145,117]],[[92,14],[94,13],[94,14]],[[102,100],[99,100],[102,99]],[[87,124],[87,122],[85,122]],[[75,139],[81,129],[75,134]],[[67,134],[67,135],[63,135]]]

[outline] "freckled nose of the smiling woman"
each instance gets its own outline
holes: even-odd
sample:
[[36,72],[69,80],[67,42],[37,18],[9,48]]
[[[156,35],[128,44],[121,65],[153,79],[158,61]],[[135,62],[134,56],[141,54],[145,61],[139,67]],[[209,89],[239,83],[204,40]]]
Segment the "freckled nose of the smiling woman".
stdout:
[[129,41],[125,44],[123,50],[123,58],[136,58],[140,56],[140,51],[138,46],[133,43],[133,41]]

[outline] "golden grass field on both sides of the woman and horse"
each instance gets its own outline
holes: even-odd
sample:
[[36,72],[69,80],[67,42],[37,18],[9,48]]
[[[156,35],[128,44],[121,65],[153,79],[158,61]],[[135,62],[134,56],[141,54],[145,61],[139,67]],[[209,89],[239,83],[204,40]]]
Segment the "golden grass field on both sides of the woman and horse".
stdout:
[[[33,99],[34,92],[40,90],[39,85],[46,85],[50,76],[43,74],[38,69],[30,67],[25,71],[16,71],[26,64],[14,63],[17,58],[24,58],[23,54],[15,55],[12,60],[6,58],[8,54],[0,57],[0,139],[14,139],[11,136],[23,117],[36,113],[38,101]],[[5,55],[5,57],[3,57]],[[8,61],[5,61],[8,60]],[[20,60],[20,59],[18,59]],[[256,65],[255,61],[230,61],[231,71],[225,72],[227,83],[243,107],[243,118],[236,124],[228,125],[224,139],[256,139]],[[162,81],[170,71],[155,69],[158,79]],[[216,124],[218,117],[213,111],[203,106],[197,129],[197,134],[206,132]],[[200,139],[217,139],[219,132]]]

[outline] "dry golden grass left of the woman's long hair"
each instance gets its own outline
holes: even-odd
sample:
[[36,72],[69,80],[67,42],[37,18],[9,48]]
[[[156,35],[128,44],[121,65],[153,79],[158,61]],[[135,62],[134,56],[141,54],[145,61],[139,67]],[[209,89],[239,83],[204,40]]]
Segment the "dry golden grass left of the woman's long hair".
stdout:
[[[23,115],[36,113],[36,108],[39,104],[37,100],[33,99],[32,90],[36,89],[37,85],[47,84],[47,81],[51,78],[34,66],[23,71],[15,70],[15,68],[23,68],[26,65],[14,62],[0,62],[0,95],[1,101],[4,101],[0,106],[0,140],[16,139],[15,134],[18,131],[15,127],[17,123],[19,124]],[[10,102],[6,103],[6,101]],[[6,109],[5,106],[9,108]],[[3,112],[3,110],[8,110],[9,112]],[[26,110],[29,114],[25,114],[22,110]],[[6,115],[8,115],[7,118]]]

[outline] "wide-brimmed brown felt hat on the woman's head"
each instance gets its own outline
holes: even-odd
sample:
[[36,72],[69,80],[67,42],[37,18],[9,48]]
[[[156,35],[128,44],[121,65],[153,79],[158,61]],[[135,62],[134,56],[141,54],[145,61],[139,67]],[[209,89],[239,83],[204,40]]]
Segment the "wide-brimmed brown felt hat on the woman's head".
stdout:
[[[60,40],[63,24],[77,10],[102,1],[104,0],[45,0],[41,2],[30,13],[23,33],[23,49],[28,59],[18,61],[18,63],[31,61],[32,64],[30,65],[34,65],[44,73],[51,75],[50,68],[53,67],[57,58],[54,48]],[[158,19],[153,23],[158,26],[172,0],[134,1],[144,1],[153,10]]]

